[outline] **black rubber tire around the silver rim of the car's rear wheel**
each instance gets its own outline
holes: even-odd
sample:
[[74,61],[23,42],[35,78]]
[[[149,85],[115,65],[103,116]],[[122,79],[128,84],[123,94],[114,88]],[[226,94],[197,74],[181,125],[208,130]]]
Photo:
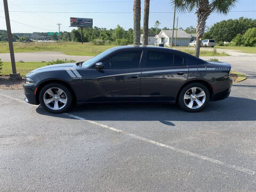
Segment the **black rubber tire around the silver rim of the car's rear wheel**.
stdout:
[[[199,108],[189,108],[186,103],[185,103],[185,93],[191,89],[192,87],[198,87],[199,89],[202,89],[205,93],[205,101],[203,103],[203,105]],[[198,91],[198,90],[197,90]],[[202,84],[202,83],[190,83],[188,85],[186,85],[185,87],[183,87],[183,89],[180,91],[180,94],[179,94],[179,97],[178,97],[178,102],[179,102],[179,106],[181,109],[185,110],[185,111],[188,111],[188,112],[198,112],[200,110],[202,110],[206,105],[207,103],[209,102],[210,100],[210,92],[209,90],[207,89],[207,87]],[[187,101],[187,100],[186,100]],[[188,100],[189,101],[189,100]],[[193,103],[195,104],[196,101],[193,101]],[[193,104],[193,105],[194,105]],[[197,105],[197,104],[196,104]]]

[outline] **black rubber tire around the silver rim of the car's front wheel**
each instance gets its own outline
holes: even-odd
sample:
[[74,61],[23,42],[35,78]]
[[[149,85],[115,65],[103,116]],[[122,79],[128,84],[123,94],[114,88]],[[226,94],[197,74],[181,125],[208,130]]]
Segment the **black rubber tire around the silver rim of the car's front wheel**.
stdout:
[[[60,109],[51,109],[50,108],[52,105],[53,105],[53,108],[54,108],[55,100],[53,100],[52,102],[50,102],[48,104],[48,106],[50,106],[50,107],[46,106],[46,104],[44,102],[44,94],[46,94],[45,92],[49,89],[52,89],[53,93],[56,93],[56,91],[58,89],[61,89],[64,92],[64,93],[60,94],[60,99],[64,99],[66,101],[66,103],[62,103],[62,102],[57,100],[58,107]],[[50,95],[50,94],[48,94],[48,95]],[[63,97],[63,98],[61,98],[61,97]],[[52,99],[52,98],[50,98],[50,99]],[[73,97],[72,97],[71,92],[69,91],[69,89],[65,85],[62,85],[60,83],[50,83],[50,84],[45,85],[42,88],[42,90],[40,91],[40,93],[39,93],[39,102],[40,102],[41,106],[44,109],[46,109],[47,111],[49,111],[50,113],[58,114],[58,113],[63,113],[65,111],[67,111],[68,109],[70,109],[70,107],[72,106],[72,103],[73,103]]]

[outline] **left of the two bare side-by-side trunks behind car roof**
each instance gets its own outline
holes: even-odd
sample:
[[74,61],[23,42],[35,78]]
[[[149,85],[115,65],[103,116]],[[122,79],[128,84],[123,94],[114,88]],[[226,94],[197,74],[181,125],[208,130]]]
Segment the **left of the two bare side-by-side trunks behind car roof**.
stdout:
[[140,0],[133,2],[133,45],[140,45]]

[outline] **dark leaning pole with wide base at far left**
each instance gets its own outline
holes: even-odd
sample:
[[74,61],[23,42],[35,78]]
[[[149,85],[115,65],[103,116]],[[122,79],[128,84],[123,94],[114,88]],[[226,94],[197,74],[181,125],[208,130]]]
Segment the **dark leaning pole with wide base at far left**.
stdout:
[[20,74],[17,74],[15,59],[14,59],[14,50],[12,44],[12,31],[11,31],[11,24],[10,24],[10,17],[9,17],[9,10],[8,10],[8,3],[7,0],[4,0],[4,13],[5,13],[5,21],[6,21],[6,29],[7,29],[7,37],[9,42],[9,49],[11,55],[11,62],[12,62],[12,74],[10,74],[10,79],[21,79]]

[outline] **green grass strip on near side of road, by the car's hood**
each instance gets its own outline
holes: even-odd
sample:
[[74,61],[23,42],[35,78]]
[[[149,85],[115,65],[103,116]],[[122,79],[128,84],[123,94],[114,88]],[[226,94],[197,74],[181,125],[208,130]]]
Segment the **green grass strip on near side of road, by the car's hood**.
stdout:
[[[20,73],[21,76],[25,76],[31,70],[37,69],[39,67],[46,66],[46,62],[16,62],[17,73]],[[12,73],[12,64],[11,62],[3,62],[3,69],[1,70],[0,75],[10,75]]]

